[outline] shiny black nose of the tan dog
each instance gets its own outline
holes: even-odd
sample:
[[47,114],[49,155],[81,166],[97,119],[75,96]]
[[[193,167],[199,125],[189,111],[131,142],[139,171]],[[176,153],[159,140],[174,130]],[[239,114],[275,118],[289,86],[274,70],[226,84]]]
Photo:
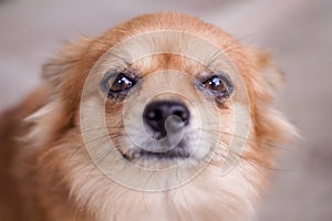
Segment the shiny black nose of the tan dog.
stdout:
[[143,113],[143,120],[160,137],[167,135],[165,125],[167,118],[169,120],[167,129],[175,131],[188,125],[189,117],[189,110],[184,104],[169,101],[153,102],[145,107]]

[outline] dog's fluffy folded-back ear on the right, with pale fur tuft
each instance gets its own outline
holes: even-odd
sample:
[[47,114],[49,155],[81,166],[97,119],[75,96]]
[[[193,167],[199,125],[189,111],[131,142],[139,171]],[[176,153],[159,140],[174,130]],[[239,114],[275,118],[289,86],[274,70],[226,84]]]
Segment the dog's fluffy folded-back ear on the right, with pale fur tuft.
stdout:
[[266,144],[288,144],[299,135],[295,127],[274,106],[274,98],[284,84],[284,75],[267,51],[250,49],[250,53],[257,76],[256,129],[258,135]]

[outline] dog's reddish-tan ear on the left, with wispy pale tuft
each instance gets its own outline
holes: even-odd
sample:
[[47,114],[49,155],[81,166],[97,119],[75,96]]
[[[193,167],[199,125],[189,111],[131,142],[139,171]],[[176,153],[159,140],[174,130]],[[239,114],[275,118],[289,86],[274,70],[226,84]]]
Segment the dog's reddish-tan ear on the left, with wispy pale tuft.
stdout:
[[[80,101],[80,80],[84,78],[80,70],[86,63],[86,50],[90,40],[76,44],[66,43],[54,57],[42,67],[42,88],[46,98],[43,106],[25,118],[35,125],[28,135],[29,140],[40,145],[50,139],[50,135],[70,127],[74,118],[74,108]],[[85,55],[85,56],[84,56]]]

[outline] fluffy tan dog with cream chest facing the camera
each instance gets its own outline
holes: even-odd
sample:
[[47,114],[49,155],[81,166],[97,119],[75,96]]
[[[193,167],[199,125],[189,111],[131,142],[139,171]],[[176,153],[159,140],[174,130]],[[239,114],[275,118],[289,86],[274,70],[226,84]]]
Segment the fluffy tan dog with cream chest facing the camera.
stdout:
[[184,14],[65,44],[3,113],[1,220],[252,220],[293,126],[269,54]]

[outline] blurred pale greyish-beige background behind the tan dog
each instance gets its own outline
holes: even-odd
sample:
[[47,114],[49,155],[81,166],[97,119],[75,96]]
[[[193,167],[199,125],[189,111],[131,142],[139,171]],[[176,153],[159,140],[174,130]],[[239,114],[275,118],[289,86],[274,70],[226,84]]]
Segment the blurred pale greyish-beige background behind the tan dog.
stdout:
[[287,78],[279,104],[303,138],[281,150],[259,220],[331,221],[330,0],[0,0],[0,110],[38,85],[41,65],[64,41],[156,11],[198,17],[271,51]]

